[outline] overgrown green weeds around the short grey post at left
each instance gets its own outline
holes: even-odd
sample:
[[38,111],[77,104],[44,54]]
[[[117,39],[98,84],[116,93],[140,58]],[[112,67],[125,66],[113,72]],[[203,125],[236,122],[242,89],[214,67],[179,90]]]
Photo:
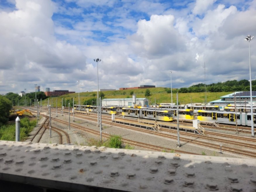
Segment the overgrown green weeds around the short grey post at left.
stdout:
[[[24,141],[27,138],[36,124],[37,120],[30,121],[28,117],[20,120],[20,141]],[[15,141],[15,123],[1,126],[0,140]]]

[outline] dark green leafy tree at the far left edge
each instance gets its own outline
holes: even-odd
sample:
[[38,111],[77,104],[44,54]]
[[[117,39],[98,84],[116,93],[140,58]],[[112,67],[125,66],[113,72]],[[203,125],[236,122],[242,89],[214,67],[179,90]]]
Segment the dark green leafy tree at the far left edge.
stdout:
[[0,95],[0,126],[8,122],[8,116],[10,114],[11,108],[11,101]]

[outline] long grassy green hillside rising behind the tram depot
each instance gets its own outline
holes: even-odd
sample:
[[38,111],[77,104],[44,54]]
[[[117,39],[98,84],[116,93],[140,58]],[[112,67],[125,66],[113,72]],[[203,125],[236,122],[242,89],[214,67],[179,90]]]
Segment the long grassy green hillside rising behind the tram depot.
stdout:
[[[157,103],[171,103],[171,94],[166,92],[166,89],[163,87],[149,88],[151,96],[146,97],[149,100],[149,104],[155,103],[155,99]],[[172,89],[174,92],[176,89]],[[129,90],[116,90],[116,91],[103,91],[105,98],[132,98],[131,93],[134,92],[136,94],[136,98],[145,98],[146,89],[129,89]],[[214,101],[220,98],[220,96],[230,94],[232,92],[207,92],[207,102]],[[95,95],[95,96],[94,96]],[[97,92],[80,92],[80,104],[83,104],[84,101],[87,101],[91,98],[97,98]],[[49,103],[52,104],[53,107],[56,107],[56,99],[58,107],[61,107],[61,98],[64,101],[70,101],[70,106],[73,105],[73,98],[75,104],[78,104],[78,93],[66,94],[60,97],[51,97],[49,98]],[[205,98],[205,93],[179,93],[179,103],[187,104],[187,103],[203,103]],[[176,103],[176,93],[172,93],[172,101]],[[48,100],[42,101],[42,105],[48,103]],[[66,102],[66,107],[68,107],[68,102]]]

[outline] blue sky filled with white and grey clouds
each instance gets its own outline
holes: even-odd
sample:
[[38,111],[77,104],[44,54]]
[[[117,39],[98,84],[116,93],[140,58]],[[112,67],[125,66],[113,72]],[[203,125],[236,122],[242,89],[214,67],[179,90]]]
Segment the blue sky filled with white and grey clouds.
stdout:
[[0,94],[256,79],[247,35],[256,0],[1,0]]

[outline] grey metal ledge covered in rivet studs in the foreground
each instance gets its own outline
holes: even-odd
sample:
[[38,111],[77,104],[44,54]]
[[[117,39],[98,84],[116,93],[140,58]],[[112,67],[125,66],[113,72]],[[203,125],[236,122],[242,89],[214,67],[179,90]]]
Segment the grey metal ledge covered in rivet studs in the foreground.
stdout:
[[256,160],[0,141],[0,179],[21,178],[71,191],[255,192]]

